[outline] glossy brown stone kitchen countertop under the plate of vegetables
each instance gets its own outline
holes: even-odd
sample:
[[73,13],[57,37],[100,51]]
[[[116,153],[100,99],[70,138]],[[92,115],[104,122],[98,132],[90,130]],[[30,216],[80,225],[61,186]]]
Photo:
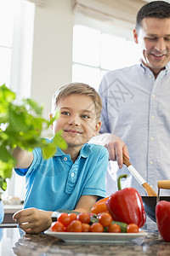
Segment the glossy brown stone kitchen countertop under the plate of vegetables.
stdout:
[[[144,228],[146,225],[144,226]],[[26,235],[18,228],[0,229],[0,255],[20,256],[50,256],[50,255],[116,255],[116,256],[144,256],[170,255],[170,242],[161,239],[157,231],[147,230],[147,236],[141,236],[132,241],[114,243],[67,243],[57,237],[43,233]]]

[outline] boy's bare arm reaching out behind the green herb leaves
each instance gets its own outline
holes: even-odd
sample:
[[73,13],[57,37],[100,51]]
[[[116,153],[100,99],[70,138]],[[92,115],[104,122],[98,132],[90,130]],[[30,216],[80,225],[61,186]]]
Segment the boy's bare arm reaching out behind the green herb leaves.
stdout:
[[15,168],[25,169],[31,166],[31,162],[33,161],[32,152],[23,150],[21,148],[14,148],[13,156],[17,160]]

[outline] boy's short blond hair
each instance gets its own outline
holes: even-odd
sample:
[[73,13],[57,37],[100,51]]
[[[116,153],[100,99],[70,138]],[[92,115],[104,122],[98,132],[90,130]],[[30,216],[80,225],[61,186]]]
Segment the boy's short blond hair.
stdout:
[[83,83],[66,84],[62,86],[59,90],[57,90],[54,93],[54,96],[52,98],[52,113],[55,112],[55,109],[57,108],[57,104],[59,103],[60,100],[63,100],[65,99],[65,97],[71,96],[73,94],[85,95],[85,96],[91,97],[95,106],[96,119],[99,119],[101,108],[102,108],[101,98],[93,87]]

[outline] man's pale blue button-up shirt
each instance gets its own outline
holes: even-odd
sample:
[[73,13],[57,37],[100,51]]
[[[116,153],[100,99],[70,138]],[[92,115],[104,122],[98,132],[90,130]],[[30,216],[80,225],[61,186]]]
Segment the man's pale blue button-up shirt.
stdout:
[[[157,193],[157,181],[170,180],[170,71],[167,67],[155,79],[142,64],[105,74],[99,86],[102,98],[101,133],[111,132],[126,143],[130,162]],[[122,189],[133,187],[146,195],[142,186],[123,166],[110,161],[107,172],[107,195],[117,190],[117,177]],[[161,195],[170,190],[161,189]]]

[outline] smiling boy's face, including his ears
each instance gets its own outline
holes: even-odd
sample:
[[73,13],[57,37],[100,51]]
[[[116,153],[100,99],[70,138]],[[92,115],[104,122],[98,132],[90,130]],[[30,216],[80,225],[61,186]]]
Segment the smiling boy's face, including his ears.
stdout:
[[58,120],[54,121],[54,134],[63,130],[65,142],[70,147],[82,148],[91,137],[98,134],[100,121],[96,120],[96,110],[89,96],[71,95],[57,104],[60,112]]

